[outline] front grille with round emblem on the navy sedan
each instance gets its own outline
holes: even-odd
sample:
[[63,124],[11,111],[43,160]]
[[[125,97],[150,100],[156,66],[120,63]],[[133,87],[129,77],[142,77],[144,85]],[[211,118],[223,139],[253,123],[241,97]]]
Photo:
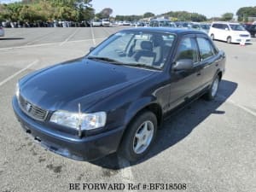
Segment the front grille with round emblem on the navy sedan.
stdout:
[[35,106],[31,102],[26,101],[23,96],[19,96],[20,108],[32,119],[44,121],[47,118],[48,111]]

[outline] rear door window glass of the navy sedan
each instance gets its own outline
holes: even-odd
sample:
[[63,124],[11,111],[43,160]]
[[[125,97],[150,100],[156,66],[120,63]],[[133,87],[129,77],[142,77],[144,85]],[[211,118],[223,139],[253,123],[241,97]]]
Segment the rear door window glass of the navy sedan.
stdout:
[[206,60],[207,58],[214,55],[212,44],[207,38],[196,38],[196,40],[199,47],[201,61]]

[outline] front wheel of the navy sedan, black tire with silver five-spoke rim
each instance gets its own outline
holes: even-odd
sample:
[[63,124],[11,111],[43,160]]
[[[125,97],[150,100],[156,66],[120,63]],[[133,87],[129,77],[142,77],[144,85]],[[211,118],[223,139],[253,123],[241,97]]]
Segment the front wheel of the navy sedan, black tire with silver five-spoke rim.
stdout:
[[126,129],[118,154],[131,162],[140,160],[154,143],[157,119],[154,113],[145,111],[138,114]]

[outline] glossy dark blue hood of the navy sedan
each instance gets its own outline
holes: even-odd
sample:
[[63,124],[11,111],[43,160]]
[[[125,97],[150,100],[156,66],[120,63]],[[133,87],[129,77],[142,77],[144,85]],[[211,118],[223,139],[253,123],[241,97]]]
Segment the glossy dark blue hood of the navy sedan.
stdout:
[[50,111],[78,111],[148,78],[151,70],[77,59],[38,71],[20,80],[20,95]]

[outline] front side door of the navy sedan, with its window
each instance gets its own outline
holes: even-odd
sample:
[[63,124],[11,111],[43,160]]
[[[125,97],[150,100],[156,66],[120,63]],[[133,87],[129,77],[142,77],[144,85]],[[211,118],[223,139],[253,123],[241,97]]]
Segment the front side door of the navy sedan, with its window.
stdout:
[[174,71],[171,74],[170,109],[189,100],[201,85],[201,65],[195,36],[184,36],[177,45],[177,53],[173,65],[179,60],[192,60],[194,67],[189,70]]

